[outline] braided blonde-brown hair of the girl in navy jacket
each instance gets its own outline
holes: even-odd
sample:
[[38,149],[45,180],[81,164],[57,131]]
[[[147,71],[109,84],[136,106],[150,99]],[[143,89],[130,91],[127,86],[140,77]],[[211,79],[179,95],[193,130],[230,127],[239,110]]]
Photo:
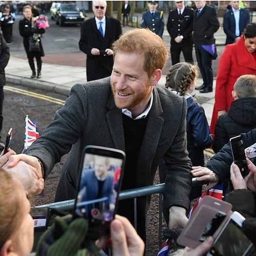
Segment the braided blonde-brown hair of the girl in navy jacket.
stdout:
[[169,69],[166,75],[165,87],[171,88],[183,96],[197,77],[197,66],[187,62],[179,62]]

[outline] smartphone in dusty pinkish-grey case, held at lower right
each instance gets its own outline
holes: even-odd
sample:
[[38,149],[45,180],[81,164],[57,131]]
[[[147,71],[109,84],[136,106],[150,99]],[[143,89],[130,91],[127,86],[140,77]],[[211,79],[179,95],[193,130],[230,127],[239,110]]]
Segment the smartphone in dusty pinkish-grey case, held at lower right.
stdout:
[[198,207],[177,239],[178,244],[196,248],[208,236],[217,237],[232,205],[211,196],[200,200]]

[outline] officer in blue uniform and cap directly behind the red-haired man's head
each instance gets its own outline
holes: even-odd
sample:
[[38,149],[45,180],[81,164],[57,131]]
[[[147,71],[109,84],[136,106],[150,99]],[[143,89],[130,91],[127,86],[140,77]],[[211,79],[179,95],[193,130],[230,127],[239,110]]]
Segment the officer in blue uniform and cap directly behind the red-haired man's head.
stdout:
[[142,13],[141,28],[149,28],[162,37],[164,29],[163,11],[158,11],[158,1],[148,1],[150,10]]

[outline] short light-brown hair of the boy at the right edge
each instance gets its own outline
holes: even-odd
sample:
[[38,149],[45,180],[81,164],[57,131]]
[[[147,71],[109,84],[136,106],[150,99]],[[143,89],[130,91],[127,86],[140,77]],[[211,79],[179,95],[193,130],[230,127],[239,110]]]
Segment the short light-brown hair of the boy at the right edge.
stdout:
[[256,98],[256,76],[242,75],[234,83],[234,91],[238,98]]

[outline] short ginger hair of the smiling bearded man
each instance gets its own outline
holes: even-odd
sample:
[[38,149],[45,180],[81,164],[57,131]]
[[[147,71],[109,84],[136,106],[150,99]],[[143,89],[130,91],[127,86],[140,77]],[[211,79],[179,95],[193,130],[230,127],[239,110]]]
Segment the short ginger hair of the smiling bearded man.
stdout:
[[149,29],[134,29],[121,35],[113,43],[116,53],[143,53],[143,69],[150,77],[156,69],[162,69],[168,59],[168,51],[163,40]]

